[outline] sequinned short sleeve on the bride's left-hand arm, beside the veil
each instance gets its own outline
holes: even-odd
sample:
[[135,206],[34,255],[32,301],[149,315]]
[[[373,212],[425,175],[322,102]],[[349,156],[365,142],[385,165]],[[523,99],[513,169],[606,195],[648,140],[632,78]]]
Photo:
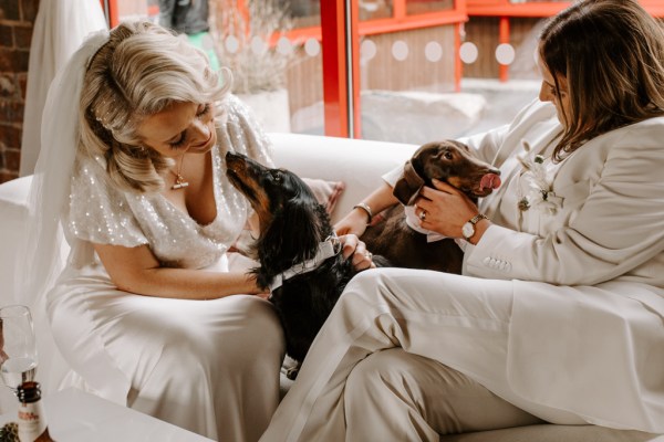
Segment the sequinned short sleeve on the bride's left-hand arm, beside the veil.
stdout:
[[72,177],[68,233],[83,241],[134,248],[147,244],[125,193],[111,187],[106,171],[92,159],[79,159]]

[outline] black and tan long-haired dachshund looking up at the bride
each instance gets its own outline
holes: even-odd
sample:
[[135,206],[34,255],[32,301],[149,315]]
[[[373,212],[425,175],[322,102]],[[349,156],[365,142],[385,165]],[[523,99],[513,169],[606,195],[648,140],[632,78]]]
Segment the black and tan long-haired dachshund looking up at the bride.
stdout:
[[325,207],[295,173],[234,152],[226,154],[226,167],[259,219],[259,236],[249,253],[260,266],[251,272],[258,286],[271,292],[288,355],[301,362],[356,272],[342,256]]

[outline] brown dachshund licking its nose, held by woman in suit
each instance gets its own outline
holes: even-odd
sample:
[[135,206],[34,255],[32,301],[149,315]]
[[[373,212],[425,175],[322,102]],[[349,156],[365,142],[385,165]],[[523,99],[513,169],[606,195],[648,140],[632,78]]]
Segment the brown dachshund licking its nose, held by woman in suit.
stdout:
[[428,242],[427,234],[406,223],[405,207],[413,206],[422,187],[433,187],[434,178],[477,202],[500,186],[499,175],[500,170],[477,159],[461,143],[445,140],[419,147],[394,187],[394,196],[403,206],[396,204],[376,217],[361,238],[374,253],[376,265],[461,273],[464,254],[455,240]]

